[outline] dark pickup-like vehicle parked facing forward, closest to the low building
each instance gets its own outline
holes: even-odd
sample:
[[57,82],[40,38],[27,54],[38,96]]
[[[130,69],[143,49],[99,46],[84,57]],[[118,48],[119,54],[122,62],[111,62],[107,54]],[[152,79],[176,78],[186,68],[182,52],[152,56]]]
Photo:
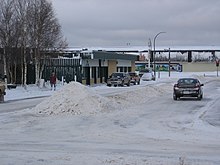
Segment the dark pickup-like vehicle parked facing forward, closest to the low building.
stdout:
[[107,79],[107,86],[130,86],[130,75],[124,72],[115,72]]

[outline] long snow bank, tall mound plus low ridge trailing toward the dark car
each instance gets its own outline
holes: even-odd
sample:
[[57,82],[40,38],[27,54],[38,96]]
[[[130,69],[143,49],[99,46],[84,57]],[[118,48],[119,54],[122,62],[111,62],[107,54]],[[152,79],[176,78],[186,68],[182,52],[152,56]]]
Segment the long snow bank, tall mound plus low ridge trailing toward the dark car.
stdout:
[[120,110],[125,107],[135,106],[150,101],[150,98],[163,95],[171,91],[170,83],[145,86],[140,89],[122,92],[113,96],[102,97],[95,93],[90,87],[78,82],[71,82],[51,97],[46,98],[33,110],[40,114],[97,114]]

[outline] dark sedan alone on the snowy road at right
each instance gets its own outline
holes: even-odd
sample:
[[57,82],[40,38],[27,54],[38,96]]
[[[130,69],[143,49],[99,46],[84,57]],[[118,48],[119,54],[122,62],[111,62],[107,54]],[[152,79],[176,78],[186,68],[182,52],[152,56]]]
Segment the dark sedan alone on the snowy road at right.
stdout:
[[180,78],[173,87],[173,99],[180,97],[197,97],[199,100],[203,98],[203,90],[200,81],[196,78]]

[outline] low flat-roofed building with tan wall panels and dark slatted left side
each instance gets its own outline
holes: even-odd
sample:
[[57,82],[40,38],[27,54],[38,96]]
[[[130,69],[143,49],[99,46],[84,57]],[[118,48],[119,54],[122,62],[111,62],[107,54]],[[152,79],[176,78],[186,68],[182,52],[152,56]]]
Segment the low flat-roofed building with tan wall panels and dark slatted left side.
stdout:
[[[86,85],[104,83],[113,72],[135,71],[138,54],[105,50],[62,50],[56,58],[44,59],[43,79],[49,80],[55,71],[59,80],[78,81]],[[54,54],[52,55],[55,56]]]

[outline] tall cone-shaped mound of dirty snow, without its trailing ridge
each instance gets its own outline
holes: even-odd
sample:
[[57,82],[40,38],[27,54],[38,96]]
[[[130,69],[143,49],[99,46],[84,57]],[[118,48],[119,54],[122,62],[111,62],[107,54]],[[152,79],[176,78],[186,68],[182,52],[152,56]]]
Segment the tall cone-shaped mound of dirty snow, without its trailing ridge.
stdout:
[[38,104],[34,110],[48,115],[63,113],[80,115],[108,112],[116,106],[109,99],[95,94],[89,87],[71,82]]

